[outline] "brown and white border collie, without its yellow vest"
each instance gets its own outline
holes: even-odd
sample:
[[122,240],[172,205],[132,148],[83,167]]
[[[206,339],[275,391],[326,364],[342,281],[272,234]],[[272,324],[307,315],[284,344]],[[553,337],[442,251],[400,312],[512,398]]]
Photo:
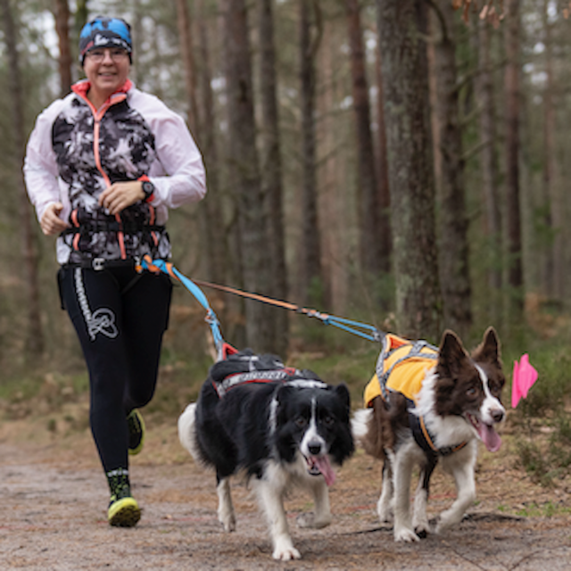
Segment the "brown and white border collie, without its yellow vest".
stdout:
[[[492,327],[471,356],[457,335],[447,331],[410,407],[401,393],[390,393],[389,402],[377,396],[367,410],[353,418],[355,438],[368,454],[384,459],[382,492],[377,503],[381,523],[394,520],[394,540],[416,542],[431,531],[426,516],[430,476],[437,461],[455,480],[457,498],[436,520],[440,533],[462,519],[476,500],[477,443],[490,451],[500,448],[495,426],[505,417],[501,389],[500,345]],[[413,434],[424,426],[434,444],[427,450]],[[431,445],[433,445],[431,444]],[[410,517],[410,480],[420,467],[413,516]]]

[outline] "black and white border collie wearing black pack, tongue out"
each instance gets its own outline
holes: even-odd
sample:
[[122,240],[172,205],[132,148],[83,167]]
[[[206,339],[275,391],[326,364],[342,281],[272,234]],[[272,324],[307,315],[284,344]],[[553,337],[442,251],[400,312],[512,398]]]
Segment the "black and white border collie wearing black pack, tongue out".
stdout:
[[[238,372],[228,375],[236,361]],[[296,485],[313,496],[314,512],[298,517],[298,525],[331,523],[332,463],[341,465],[353,451],[349,391],[310,371],[285,368],[273,356],[240,352],[212,366],[198,401],[178,419],[178,435],[196,461],[216,469],[224,529],[236,529],[229,476],[243,471],[267,517],[274,559],[299,559],[285,492]]]

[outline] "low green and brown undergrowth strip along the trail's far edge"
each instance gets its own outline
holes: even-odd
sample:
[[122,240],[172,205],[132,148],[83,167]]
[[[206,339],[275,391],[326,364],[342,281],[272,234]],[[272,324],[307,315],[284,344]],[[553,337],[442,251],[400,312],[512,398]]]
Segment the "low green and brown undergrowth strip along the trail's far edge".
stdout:
[[[156,393],[145,408],[146,414],[153,415],[157,422],[178,418],[186,404],[196,400],[212,364],[203,329],[192,320],[188,326],[186,322],[184,327],[174,325],[177,328],[171,327],[172,338],[167,337],[162,352]],[[517,340],[505,339],[499,333],[508,380],[503,401],[508,410],[513,361],[527,352],[539,373],[527,398],[519,402],[517,409],[509,410],[517,468],[525,470],[534,482],[544,486],[557,484],[571,475],[569,332],[549,339],[530,333],[517,335]],[[332,385],[345,383],[352,396],[352,409],[362,406],[363,389],[375,371],[377,343],[319,323],[296,321],[290,347],[286,357],[289,366],[310,368]],[[79,355],[67,361],[35,363],[33,367],[11,371],[10,375],[4,369],[0,378],[0,415],[4,420],[44,415],[46,429],[53,432],[61,426],[65,430],[86,429],[88,385]]]

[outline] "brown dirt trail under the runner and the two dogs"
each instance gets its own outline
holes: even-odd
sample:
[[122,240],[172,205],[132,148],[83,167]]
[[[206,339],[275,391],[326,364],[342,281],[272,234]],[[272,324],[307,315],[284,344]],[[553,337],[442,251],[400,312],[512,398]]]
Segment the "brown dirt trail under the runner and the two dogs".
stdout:
[[[271,559],[262,518],[239,481],[233,487],[237,530],[222,532],[214,476],[182,451],[174,426],[147,422],[145,450],[131,468],[144,509],[134,529],[106,523],[105,483],[87,431],[62,437],[38,428],[32,441],[21,426],[4,423],[0,430],[0,569],[571,568],[571,490],[531,484],[502,452],[482,453],[478,503],[459,528],[414,545],[394,543],[391,530],[378,525],[380,467],[358,453],[338,471],[328,528],[299,529],[295,516],[311,509],[309,498],[294,492],[287,501],[303,559],[280,563]],[[451,478],[437,474],[430,513],[450,505],[453,495]],[[514,515],[534,505],[537,516]],[[548,509],[559,515],[539,515]]]

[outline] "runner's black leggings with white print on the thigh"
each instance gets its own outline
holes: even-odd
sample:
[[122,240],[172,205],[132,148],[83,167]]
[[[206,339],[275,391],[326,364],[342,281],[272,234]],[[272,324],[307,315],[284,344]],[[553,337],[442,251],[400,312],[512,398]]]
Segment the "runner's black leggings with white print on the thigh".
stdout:
[[128,468],[126,416],[153,398],[172,285],[131,267],[64,267],[62,303],[89,371],[89,420],[103,469]]

